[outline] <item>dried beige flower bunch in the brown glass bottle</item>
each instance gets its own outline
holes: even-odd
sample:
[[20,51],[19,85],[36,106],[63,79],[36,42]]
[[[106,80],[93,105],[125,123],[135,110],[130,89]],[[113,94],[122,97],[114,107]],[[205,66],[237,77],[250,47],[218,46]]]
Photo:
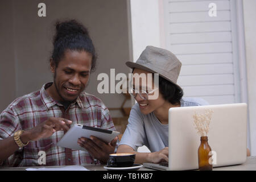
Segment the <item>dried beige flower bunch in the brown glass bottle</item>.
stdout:
[[205,110],[204,114],[197,114],[196,112],[193,114],[194,125],[197,130],[197,133],[200,134],[201,137],[206,137],[209,132],[210,120],[212,119],[213,110],[208,109]]

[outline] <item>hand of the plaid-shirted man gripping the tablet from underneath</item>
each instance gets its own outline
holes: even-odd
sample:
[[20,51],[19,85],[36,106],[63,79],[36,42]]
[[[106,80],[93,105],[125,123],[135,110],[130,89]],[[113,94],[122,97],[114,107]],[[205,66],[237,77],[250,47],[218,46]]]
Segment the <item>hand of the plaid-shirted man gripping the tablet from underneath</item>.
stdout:
[[97,137],[90,136],[89,138],[81,137],[77,143],[84,147],[93,158],[100,160],[101,163],[106,163],[109,159],[109,154],[113,154],[118,137],[115,137],[110,143],[105,143]]

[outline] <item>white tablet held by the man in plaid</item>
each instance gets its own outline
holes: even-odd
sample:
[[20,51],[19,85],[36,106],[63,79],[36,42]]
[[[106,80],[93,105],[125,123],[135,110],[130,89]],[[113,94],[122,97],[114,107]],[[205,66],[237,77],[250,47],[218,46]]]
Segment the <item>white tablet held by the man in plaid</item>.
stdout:
[[80,147],[77,140],[81,137],[90,138],[90,136],[97,137],[102,141],[109,143],[120,133],[118,131],[104,130],[97,127],[74,125],[68,132],[57,142],[57,146],[71,148],[73,150],[85,150]]

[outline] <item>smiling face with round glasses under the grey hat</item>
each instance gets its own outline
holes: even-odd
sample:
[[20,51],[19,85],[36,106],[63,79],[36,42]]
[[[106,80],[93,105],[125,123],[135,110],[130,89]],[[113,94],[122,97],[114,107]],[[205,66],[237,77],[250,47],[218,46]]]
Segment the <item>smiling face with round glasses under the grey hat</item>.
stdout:
[[[147,75],[148,73],[151,73],[151,72],[147,72],[147,71],[144,71],[142,69],[135,68],[134,71],[133,71],[133,75],[136,75],[136,73],[140,76],[140,75]],[[140,90],[144,90],[147,93],[151,91],[151,90],[146,89],[147,88],[147,82],[142,82],[140,80],[139,85],[137,85],[136,82],[135,82],[134,76],[133,76],[133,79],[134,79],[133,87],[135,89],[139,88]],[[152,79],[152,86],[151,87],[153,89],[155,89],[154,88],[154,79]],[[159,89],[157,89],[155,92],[159,92]],[[152,93],[152,94],[154,94],[154,93]],[[154,100],[144,100],[143,98],[141,98],[141,96],[139,96],[139,94],[137,94],[137,96],[135,97],[135,100],[138,102],[139,109],[141,110],[142,114],[152,113],[152,111],[155,111],[155,110],[159,109],[166,102],[164,100],[164,98],[162,97],[162,94],[160,94],[160,92],[158,93],[158,97]]]

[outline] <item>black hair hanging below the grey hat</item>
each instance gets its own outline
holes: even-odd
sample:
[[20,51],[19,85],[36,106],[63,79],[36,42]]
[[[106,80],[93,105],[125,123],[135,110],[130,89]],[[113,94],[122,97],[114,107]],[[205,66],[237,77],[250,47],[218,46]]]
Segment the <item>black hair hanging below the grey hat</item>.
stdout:
[[172,82],[159,76],[159,92],[162,94],[164,100],[171,104],[180,104],[180,100],[183,97],[183,90],[179,89]]

